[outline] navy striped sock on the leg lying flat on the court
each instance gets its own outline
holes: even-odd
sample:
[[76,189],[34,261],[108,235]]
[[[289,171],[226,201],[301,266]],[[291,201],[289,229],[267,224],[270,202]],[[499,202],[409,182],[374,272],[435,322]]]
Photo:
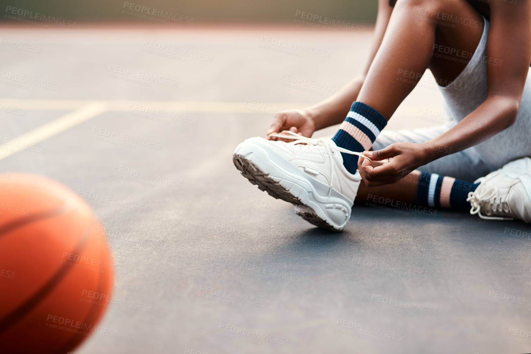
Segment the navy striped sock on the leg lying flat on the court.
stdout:
[[453,177],[421,172],[418,179],[415,204],[429,208],[447,208],[456,211],[469,211],[466,201],[468,192],[474,192],[479,183],[466,182]]

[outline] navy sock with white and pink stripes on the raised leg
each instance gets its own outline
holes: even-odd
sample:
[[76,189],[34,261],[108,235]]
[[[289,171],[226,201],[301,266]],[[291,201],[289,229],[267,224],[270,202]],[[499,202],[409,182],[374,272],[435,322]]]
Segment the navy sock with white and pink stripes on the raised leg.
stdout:
[[[387,125],[387,120],[379,111],[362,102],[352,103],[347,118],[339,127],[332,140],[340,148],[354,152],[367,151],[371,148],[376,136]],[[351,174],[358,168],[358,156],[341,152],[343,165]]]

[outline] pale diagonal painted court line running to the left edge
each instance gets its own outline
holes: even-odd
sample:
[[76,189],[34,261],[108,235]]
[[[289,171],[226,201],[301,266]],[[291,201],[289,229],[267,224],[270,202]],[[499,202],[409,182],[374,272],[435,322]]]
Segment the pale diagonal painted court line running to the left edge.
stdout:
[[19,151],[25,150],[25,147],[28,145],[37,144],[51,136],[62,133],[74,125],[78,125],[85,120],[96,117],[107,110],[108,105],[106,102],[91,102],[87,105],[81,106],[80,108],[67,113],[64,116],[52,120],[52,122],[43,124],[40,127],[29,131],[28,133],[24,133],[18,137],[15,137],[12,139],[12,141],[16,142],[16,146],[10,146],[10,150],[8,151],[0,150],[0,160],[5,159],[6,157],[11,156]]

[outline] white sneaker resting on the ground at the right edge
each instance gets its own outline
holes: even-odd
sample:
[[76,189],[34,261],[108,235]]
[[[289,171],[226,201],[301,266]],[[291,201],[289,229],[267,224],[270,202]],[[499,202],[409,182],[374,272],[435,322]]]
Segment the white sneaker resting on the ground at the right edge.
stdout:
[[509,162],[497,171],[476,180],[481,182],[468,193],[470,214],[482,219],[531,221],[531,159]]

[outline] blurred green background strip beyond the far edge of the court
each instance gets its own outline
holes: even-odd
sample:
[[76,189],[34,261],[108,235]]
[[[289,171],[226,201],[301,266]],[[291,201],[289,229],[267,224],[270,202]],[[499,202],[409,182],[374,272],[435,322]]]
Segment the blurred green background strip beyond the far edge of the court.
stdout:
[[[97,0],[83,1],[47,1],[20,0],[16,2],[3,1],[4,5],[31,9],[32,11],[53,14],[62,18],[75,21],[134,21],[124,10],[129,10],[129,5],[135,4],[162,10],[165,13],[185,15],[193,18],[194,22],[293,22],[297,11],[318,14],[323,18],[336,20],[358,21],[373,23],[378,11],[377,1],[304,1],[304,0],[271,0],[261,1],[130,1]],[[133,9],[134,10],[134,7]],[[143,11],[147,14],[147,9]],[[150,11],[152,13],[152,11]],[[3,21],[6,18],[3,17]],[[170,22],[170,21],[168,21]]]

